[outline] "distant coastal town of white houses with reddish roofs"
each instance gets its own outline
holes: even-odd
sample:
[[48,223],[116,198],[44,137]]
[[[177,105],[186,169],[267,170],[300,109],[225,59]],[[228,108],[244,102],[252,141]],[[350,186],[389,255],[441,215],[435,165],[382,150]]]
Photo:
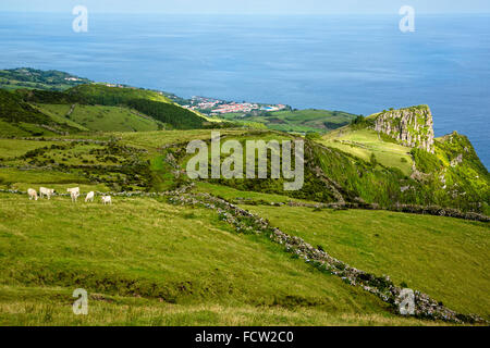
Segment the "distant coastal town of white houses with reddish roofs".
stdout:
[[206,97],[192,97],[183,104],[184,108],[205,112],[209,115],[225,113],[248,113],[252,111],[279,111],[287,107],[283,104],[259,104],[250,102],[224,101]]

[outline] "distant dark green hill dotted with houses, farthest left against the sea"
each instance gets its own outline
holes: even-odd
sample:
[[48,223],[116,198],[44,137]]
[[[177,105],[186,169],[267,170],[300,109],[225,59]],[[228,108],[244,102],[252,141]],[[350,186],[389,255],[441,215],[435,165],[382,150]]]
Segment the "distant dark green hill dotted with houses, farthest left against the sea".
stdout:
[[41,71],[30,67],[0,70],[0,88],[36,88],[48,90],[64,90],[89,79],[74,76],[56,70]]

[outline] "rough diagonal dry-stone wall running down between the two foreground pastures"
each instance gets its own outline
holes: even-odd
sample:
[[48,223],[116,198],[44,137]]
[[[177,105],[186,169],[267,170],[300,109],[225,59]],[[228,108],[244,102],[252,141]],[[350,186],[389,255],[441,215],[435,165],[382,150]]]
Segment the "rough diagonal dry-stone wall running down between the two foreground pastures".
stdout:
[[[382,301],[391,304],[393,311],[399,313],[403,288],[396,286],[388,275],[377,276],[355,269],[331,257],[324,250],[314,248],[304,239],[291,236],[271,226],[266,219],[209,194],[175,195],[170,198],[170,201],[174,204],[201,206],[212,209],[218,212],[222,221],[233,225],[237,233],[254,233],[268,236],[272,241],[282,245],[285,251],[296,254],[299,259],[321,271],[341,277],[348,285],[358,286],[365,291],[373,294]],[[488,324],[478,315],[457,313],[443,306],[442,302],[418,290],[414,290],[413,315],[420,319],[440,320],[458,324]]]

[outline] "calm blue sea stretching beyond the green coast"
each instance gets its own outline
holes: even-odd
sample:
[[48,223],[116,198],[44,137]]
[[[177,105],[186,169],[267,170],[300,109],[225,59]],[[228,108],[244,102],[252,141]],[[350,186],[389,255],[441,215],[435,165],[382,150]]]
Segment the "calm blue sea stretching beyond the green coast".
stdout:
[[0,69],[61,70],[182,97],[358,114],[429,104],[437,136],[469,137],[489,167],[490,16],[0,13]]

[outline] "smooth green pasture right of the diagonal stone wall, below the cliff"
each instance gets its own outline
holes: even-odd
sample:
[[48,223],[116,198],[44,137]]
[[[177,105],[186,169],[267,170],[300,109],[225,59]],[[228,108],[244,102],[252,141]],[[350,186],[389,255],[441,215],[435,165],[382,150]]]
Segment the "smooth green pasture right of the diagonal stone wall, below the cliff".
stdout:
[[352,266],[490,318],[488,223],[385,211],[248,208]]

